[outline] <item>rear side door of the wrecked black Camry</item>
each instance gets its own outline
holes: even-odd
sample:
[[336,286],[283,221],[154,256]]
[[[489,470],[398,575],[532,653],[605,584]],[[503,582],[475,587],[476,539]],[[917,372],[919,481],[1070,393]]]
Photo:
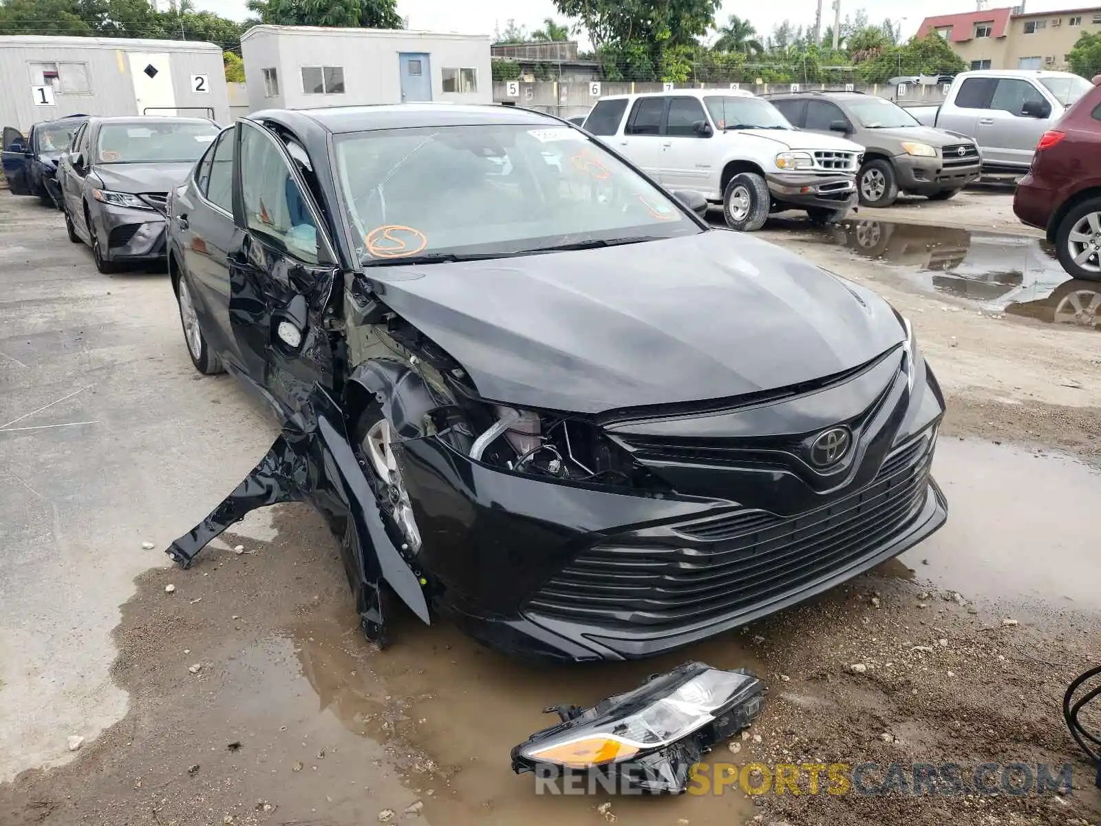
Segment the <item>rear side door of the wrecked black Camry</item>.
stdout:
[[240,362],[229,324],[228,256],[242,238],[233,224],[235,142],[236,128],[231,127],[207,150],[177,198],[171,231],[179,240],[208,343],[230,362]]

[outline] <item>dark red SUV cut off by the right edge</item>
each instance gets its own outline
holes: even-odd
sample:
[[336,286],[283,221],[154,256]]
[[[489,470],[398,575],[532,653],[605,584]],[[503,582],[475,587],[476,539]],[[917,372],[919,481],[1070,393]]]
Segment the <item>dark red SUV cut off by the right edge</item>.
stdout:
[[1047,231],[1062,269],[1101,281],[1101,75],[1039,139],[1013,211]]

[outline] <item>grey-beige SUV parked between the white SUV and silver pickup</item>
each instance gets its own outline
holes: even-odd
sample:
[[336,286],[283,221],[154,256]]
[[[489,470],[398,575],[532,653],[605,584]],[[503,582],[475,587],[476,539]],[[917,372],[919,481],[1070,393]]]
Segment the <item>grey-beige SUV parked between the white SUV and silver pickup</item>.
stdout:
[[900,193],[946,200],[979,177],[979,146],[967,135],[925,127],[886,98],[859,91],[771,95],[793,124],[844,135],[864,148],[860,203],[890,206]]

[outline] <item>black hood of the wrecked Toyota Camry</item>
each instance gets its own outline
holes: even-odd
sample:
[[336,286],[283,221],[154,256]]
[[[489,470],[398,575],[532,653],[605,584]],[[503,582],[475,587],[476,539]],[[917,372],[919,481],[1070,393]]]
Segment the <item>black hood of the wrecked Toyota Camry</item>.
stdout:
[[369,270],[487,399],[598,413],[787,387],[903,340],[891,307],[746,235]]

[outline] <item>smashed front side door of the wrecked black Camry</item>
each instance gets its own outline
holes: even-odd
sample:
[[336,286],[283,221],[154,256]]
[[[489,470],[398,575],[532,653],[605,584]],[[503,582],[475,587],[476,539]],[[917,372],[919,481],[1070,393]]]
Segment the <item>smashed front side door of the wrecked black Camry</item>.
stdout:
[[232,199],[242,242],[227,259],[230,330],[247,378],[295,422],[314,385],[334,383],[333,242],[286,148],[255,121],[238,122]]

